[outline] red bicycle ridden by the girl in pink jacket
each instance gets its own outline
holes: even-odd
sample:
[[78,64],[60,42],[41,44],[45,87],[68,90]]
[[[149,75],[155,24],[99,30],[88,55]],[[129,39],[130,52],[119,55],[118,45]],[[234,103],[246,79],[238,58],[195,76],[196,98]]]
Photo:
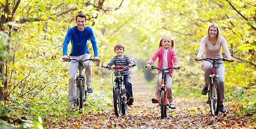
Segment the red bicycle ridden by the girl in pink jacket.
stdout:
[[[147,66],[145,66],[145,68],[147,68]],[[170,105],[167,103],[167,98],[168,98],[168,93],[167,93],[167,89],[165,88],[165,84],[166,84],[166,74],[165,74],[165,70],[169,70],[171,69],[172,71],[177,71],[174,70],[175,67],[170,67],[170,68],[166,68],[166,69],[160,69],[156,66],[151,66],[149,69],[158,69],[160,70],[160,73],[162,73],[162,81],[161,81],[161,88],[160,91],[158,93],[158,106],[161,107],[161,118],[165,118],[167,117],[167,110],[169,111]],[[180,67],[178,67],[178,69],[180,69]],[[159,73],[159,74],[160,74]],[[171,112],[171,111],[169,111]]]

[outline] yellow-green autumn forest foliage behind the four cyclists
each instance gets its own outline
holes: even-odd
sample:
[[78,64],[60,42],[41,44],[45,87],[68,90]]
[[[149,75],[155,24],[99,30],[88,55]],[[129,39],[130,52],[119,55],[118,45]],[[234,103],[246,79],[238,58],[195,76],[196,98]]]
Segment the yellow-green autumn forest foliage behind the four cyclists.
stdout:
[[[138,66],[133,73],[155,83],[145,70],[162,36],[173,36],[181,69],[173,80],[174,96],[202,99],[204,73],[195,61],[200,39],[216,22],[226,39],[233,63],[225,63],[226,101],[241,104],[237,115],[256,120],[256,3],[254,0],[0,0],[0,116],[25,120],[69,115],[68,63],[62,62],[67,30],[76,14],[87,15],[100,60],[115,56],[122,43]],[[71,44],[71,43],[70,43]],[[69,50],[71,45],[69,44]],[[92,46],[89,45],[93,53]],[[223,54],[224,55],[224,54]],[[225,57],[225,56],[224,56]],[[103,111],[111,103],[112,75],[93,64],[94,94],[85,110]],[[90,100],[90,98],[96,98]],[[93,106],[97,105],[97,106]],[[54,117],[53,117],[54,116]],[[1,120],[1,123],[4,122]],[[19,126],[16,123],[16,126]]]

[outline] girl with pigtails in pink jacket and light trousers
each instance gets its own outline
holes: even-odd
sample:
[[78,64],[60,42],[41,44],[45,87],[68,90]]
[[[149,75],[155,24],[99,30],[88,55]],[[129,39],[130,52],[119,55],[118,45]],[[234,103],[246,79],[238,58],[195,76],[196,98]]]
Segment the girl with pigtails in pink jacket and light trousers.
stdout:
[[[175,69],[178,69],[179,62],[175,54],[175,51],[173,49],[174,49],[173,37],[168,37],[168,36],[162,37],[159,43],[159,49],[156,50],[155,54],[149,59],[147,68],[150,68],[151,65],[156,61],[156,58],[158,57],[158,68],[166,69],[169,67],[173,67],[173,64],[174,64]],[[165,73],[167,77],[166,88],[168,91],[169,105],[171,109],[176,109],[176,105],[174,104],[173,89],[172,89],[173,71],[166,70]],[[162,74],[160,73],[159,70],[157,71],[157,74],[158,74],[158,81],[156,84],[156,94],[155,94],[155,97],[152,98],[152,103],[158,103],[158,93],[159,93],[159,88],[161,87]]]

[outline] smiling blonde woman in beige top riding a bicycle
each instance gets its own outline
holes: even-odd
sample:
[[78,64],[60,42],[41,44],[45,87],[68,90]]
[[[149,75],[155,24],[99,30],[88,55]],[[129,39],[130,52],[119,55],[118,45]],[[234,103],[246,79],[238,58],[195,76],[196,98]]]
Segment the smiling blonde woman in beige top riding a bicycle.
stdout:
[[[197,61],[201,60],[202,54],[204,54],[204,57],[208,57],[208,58],[215,58],[215,59],[223,58],[221,54],[221,47],[223,48],[223,51],[226,57],[229,60],[233,60],[228,50],[228,45],[226,44],[226,40],[221,35],[219,26],[217,25],[217,23],[213,22],[208,27],[206,35],[200,41],[200,49],[196,57]],[[211,62],[212,61],[202,61],[202,64],[201,64],[202,70],[204,70],[204,82],[205,82],[204,89],[202,90],[203,95],[207,94],[208,86],[210,84],[209,75],[210,75],[210,72],[212,72]],[[216,62],[216,65],[219,66],[219,68],[217,68],[215,72],[217,75],[219,75],[219,84],[221,89],[219,108],[221,112],[226,112],[226,109],[223,105],[224,93],[225,93],[225,83],[224,83],[225,67],[224,67],[223,61]]]

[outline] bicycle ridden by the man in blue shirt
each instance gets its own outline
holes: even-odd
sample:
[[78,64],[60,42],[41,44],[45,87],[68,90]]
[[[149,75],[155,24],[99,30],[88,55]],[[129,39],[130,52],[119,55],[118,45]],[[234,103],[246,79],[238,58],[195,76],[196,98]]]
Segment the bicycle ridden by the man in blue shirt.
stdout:
[[[94,60],[92,58],[90,59],[85,59],[83,61],[78,61],[77,59],[68,59],[67,62],[70,61],[77,61],[78,62],[78,70],[79,70],[79,75],[76,77],[76,107],[79,108],[81,111],[83,108],[83,102],[86,101],[87,97],[87,90],[85,90],[85,78],[84,74],[82,74],[83,68],[85,68],[85,64],[83,62],[85,61],[100,61],[100,60]],[[66,62],[66,61],[62,61]],[[86,71],[86,70],[85,70]]]

